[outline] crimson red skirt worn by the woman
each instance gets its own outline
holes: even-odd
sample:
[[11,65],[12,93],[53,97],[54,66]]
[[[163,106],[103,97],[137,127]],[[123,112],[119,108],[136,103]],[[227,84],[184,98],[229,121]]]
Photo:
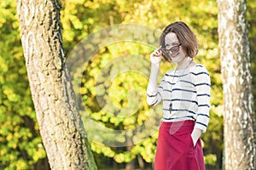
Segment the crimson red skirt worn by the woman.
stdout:
[[193,144],[194,121],[161,122],[154,170],[204,170],[201,139]]

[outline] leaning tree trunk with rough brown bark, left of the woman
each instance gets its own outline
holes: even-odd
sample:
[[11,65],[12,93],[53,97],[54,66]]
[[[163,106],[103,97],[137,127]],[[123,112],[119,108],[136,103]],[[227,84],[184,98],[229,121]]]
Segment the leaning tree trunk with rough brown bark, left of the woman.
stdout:
[[17,0],[20,37],[51,169],[96,169],[76,108],[61,42],[57,0]]

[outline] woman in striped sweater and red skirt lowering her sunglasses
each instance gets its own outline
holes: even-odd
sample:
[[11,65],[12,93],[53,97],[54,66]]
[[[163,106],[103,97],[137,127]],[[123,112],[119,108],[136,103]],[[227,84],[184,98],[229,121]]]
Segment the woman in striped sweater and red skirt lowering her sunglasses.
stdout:
[[[175,22],[166,26],[160,48],[150,54],[148,105],[163,101],[155,170],[205,169],[200,136],[209,122],[210,77],[207,69],[193,60],[197,52],[193,31],[185,23]],[[161,56],[177,63],[177,68],[167,71],[157,87]]]

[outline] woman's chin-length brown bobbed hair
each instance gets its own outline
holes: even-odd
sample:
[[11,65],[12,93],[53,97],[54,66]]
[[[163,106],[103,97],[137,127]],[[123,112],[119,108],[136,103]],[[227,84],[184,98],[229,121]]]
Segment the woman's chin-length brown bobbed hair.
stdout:
[[[182,44],[185,49],[187,56],[194,58],[198,53],[199,43],[195,37],[195,34],[188,25],[182,21],[174,22],[166,26],[165,30],[160,36],[160,46],[166,47],[165,38],[166,35],[170,32],[176,34],[178,41]],[[163,57],[168,60],[168,56],[163,55]]]

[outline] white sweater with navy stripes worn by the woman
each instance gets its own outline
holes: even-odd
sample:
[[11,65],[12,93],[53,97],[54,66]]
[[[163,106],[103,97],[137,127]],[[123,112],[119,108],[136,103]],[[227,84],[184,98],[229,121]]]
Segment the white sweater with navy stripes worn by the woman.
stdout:
[[203,65],[172,70],[166,73],[158,88],[148,84],[147,102],[158,105],[163,101],[163,122],[194,120],[195,127],[205,133],[209,122],[210,88],[210,77]]

